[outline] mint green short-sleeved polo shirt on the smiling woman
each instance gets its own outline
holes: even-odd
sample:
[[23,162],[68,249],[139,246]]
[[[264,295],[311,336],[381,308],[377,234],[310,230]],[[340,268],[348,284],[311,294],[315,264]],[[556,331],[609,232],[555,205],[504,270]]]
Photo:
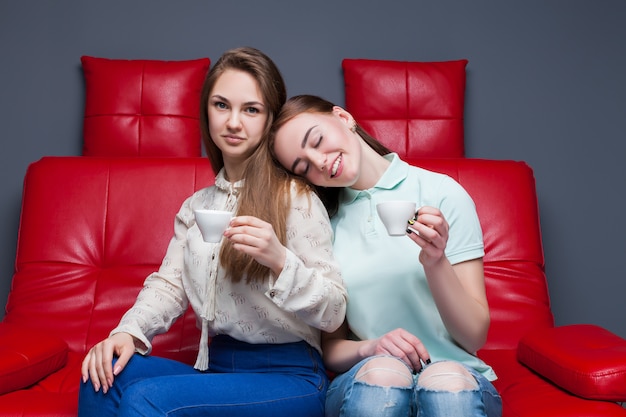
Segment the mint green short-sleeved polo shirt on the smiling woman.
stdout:
[[433,361],[462,362],[494,380],[491,367],[459,347],[446,330],[418,259],[420,247],[408,236],[389,236],[376,212],[376,204],[387,200],[439,208],[450,225],[446,256],[454,265],[484,256],[474,202],[447,175],[411,166],[395,153],[385,158],[391,164],[378,183],[368,190],[343,189],[331,219],[333,250],[348,289],[350,329],[365,340],[404,328],[422,340]]

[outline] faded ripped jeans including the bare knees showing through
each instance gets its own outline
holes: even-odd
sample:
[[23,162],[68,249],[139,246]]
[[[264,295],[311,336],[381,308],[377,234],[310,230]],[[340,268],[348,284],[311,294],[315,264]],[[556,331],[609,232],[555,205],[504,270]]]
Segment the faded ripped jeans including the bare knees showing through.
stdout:
[[[417,375],[411,377],[411,371],[402,371],[401,377],[407,379],[401,386],[372,385],[359,380],[361,368],[374,356],[357,363],[348,372],[338,375],[331,383],[326,394],[326,417],[500,417],[502,400],[493,384],[474,369],[463,368],[469,372],[461,375],[457,372],[443,372],[441,365],[455,362],[436,362],[424,366]],[[391,358],[391,357],[389,357]],[[408,367],[398,359],[403,367]],[[429,372],[428,370],[431,369]],[[374,368],[373,370],[380,370]],[[432,372],[437,371],[437,372]],[[400,375],[398,370],[392,373]],[[420,375],[427,379],[420,379]],[[359,377],[357,377],[359,375]],[[471,378],[473,376],[473,378]],[[450,385],[463,387],[452,392]],[[468,385],[469,384],[469,385]],[[443,386],[448,387],[442,390]],[[471,387],[471,388],[469,388]]]

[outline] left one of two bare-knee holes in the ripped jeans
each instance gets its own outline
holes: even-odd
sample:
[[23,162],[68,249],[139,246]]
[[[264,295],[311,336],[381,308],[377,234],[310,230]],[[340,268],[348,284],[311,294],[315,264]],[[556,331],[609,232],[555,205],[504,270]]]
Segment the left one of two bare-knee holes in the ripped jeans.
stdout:
[[410,387],[413,375],[401,360],[393,357],[378,357],[366,362],[355,379],[370,385],[383,387]]

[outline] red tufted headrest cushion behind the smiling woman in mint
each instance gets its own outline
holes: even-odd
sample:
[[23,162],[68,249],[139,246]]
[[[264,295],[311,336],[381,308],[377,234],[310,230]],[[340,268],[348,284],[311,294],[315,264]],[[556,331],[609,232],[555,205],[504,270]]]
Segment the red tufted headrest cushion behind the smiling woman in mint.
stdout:
[[462,157],[466,65],[344,59],[346,110],[403,158]]

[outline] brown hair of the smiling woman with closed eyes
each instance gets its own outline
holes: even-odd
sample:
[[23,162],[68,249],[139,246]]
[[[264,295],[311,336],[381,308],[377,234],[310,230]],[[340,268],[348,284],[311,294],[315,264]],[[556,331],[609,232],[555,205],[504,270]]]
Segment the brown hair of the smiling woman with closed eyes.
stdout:
[[[270,152],[272,153],[272,159],[274,163],[281,167],[282,170],[287,172],[287,169],[283,167],[279,162],[278,158],[276,158],[276,153],[274,151],[275,147],[275,137],[276,132],[283,127],[288,121],[293,119],[302,113],[319,113],[319,114],[332,114],[333,107],[335,107],[334,103],[323,99],[318,96],[302,94],[298,96],[293,96],[282,107],[278,116],[276,116],[276,120],[272,125],[272,130],[270,132],[270,139],[268,142]],[[356,133],[367,143],[367,145],[374,149],[380,155],[386,155],[391,153],[392,151],[387,148],[385,145],[380,143],[376,138],[367,133],[358,123],[355,121]],[[295,138],[294,138],[295,140]],[[298,139],[300,140],[300,139]],[[314,189],[314,191],[319,195],[320,199],[324,203],[328,214],[332,217],[337,213],[338,205],[339,205],[339,192],[341,188],[336,187],[321,187],[315,184],[310,184],[310,186]]]

